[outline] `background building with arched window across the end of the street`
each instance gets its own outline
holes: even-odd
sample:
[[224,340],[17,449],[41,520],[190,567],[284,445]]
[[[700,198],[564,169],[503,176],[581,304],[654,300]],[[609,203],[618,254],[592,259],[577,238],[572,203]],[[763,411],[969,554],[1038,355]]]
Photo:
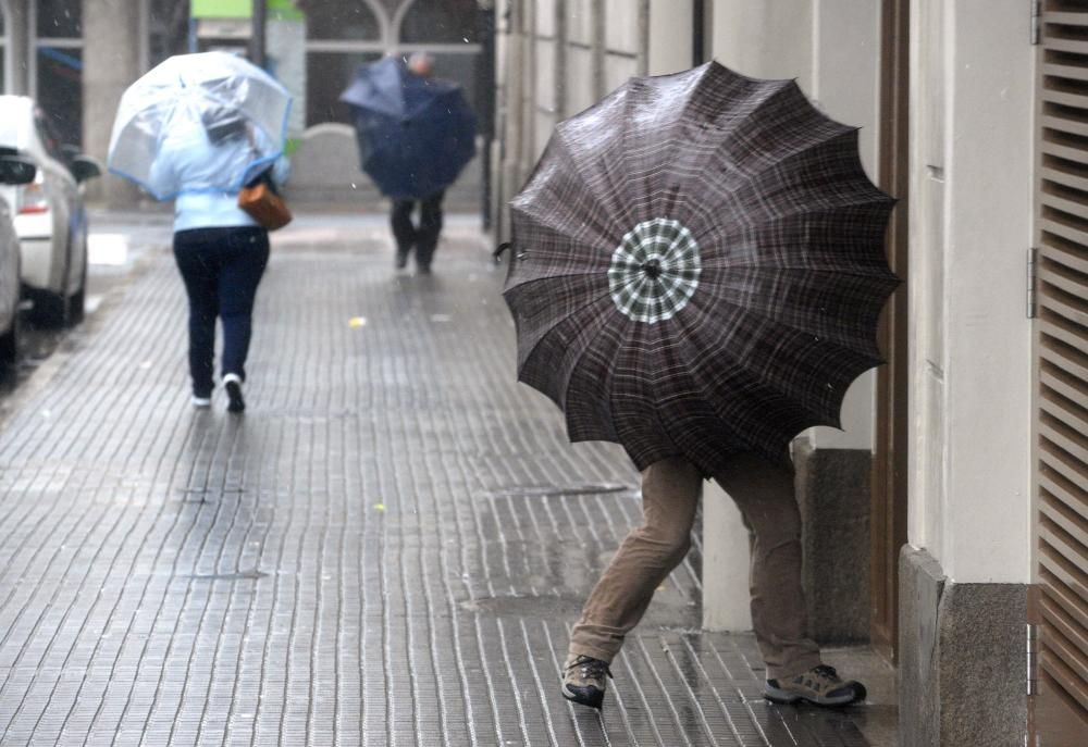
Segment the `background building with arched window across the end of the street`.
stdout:
[[[356,145],[337,99],[359,64],[385,54],[433,54],[438,74],[461,84],[475,105],[481,150],[489,152],[490,2],[267,0],[267,7],[268,66],[296,94],[290,134],[295,147],[311,151],[299,160],[310,167],[296,170],[296,198],[351,207],[378,200],[356,159],[343,157]],[[0,0],[0,91],[35,97],[65,142],[104,160],[124,89],[171,54],[245,51],[251,12],[252,0]],[[471,167],[452,202],[479,209],[486,173]],[[97,188],[116,204],[137,197],[114,177]]]

